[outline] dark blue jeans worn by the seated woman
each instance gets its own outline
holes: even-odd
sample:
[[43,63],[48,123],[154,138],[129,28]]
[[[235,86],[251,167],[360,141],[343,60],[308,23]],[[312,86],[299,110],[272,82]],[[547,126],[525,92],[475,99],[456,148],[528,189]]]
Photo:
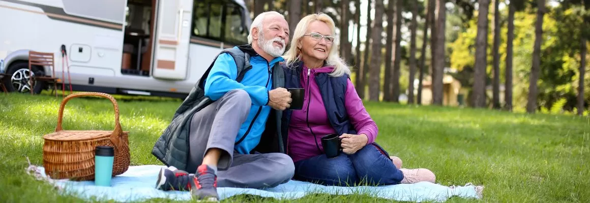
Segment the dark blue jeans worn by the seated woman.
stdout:
[[322,185],[394,185],[404,179],[387,152],[378,144],[368,144],[355,154],[340,153],[327,158],[321,154],[295,162],[293,179]]

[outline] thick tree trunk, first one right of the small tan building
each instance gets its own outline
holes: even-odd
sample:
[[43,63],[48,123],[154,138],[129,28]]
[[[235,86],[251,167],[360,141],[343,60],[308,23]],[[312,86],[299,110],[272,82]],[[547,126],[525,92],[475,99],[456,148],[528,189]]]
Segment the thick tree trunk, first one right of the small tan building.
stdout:
[[477,14],[476,62],[473,79],[473,107],[486,107],[487,14],[490,1],[479,0]]

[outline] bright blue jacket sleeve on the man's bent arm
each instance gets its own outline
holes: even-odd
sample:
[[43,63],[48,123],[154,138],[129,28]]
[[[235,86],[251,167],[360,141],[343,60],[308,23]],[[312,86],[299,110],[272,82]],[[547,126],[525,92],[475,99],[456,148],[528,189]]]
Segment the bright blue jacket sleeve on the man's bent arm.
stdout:
[[244,89],[250,95],[252,104],[267,105],[268,90],[264,86],[245,86],[235,79],[238,77],[234,58],[227,53],[218,56],[205,81],[205,96],[217,100],[233,89]]

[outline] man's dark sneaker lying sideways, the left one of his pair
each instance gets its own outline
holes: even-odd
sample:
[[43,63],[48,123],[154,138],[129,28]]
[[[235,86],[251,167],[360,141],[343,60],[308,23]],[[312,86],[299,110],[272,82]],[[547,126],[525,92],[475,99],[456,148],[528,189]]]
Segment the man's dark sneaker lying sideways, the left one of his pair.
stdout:
[[186,171],[172,167],[162,167],[158,174],[158,181],[156,181],[156,189],[162,189],[163,191],[188,191],[191,188],[189,184],[191,178],[192,175],[189,175]]

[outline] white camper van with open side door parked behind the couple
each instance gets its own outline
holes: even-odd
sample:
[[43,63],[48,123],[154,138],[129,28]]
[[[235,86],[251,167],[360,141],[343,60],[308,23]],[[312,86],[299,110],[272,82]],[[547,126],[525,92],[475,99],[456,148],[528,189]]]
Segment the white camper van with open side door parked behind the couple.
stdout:
[[50,52],[66,90],[69,68],[74,91],[184,98],[250,24],[243,0],[0,0],[0,72],[8,91],[38,93],[48,84],[29,82],[28,54]]

